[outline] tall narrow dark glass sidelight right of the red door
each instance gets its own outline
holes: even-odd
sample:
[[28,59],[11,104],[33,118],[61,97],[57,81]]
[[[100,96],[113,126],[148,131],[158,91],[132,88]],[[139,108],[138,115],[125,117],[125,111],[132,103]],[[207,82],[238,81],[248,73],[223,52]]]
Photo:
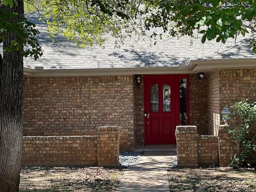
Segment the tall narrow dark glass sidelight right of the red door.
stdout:
[[187,79],[180,79],[180,125],[187,125]]

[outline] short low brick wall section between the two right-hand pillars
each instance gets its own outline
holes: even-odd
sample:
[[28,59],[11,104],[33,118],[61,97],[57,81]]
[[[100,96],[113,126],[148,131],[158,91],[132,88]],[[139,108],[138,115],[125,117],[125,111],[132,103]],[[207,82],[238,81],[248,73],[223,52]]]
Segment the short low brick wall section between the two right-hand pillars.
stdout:
[[200,135],[198,136],[198,164],[217,165],[218,156],[218,136]]

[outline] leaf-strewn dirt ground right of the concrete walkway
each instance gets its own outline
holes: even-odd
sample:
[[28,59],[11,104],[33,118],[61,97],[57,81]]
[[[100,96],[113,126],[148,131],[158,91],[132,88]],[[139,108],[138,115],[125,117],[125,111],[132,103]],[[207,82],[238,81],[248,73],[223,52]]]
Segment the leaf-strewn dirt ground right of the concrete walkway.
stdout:
[[173,168],[168,179],[170,192],[256,192],[254,169]]

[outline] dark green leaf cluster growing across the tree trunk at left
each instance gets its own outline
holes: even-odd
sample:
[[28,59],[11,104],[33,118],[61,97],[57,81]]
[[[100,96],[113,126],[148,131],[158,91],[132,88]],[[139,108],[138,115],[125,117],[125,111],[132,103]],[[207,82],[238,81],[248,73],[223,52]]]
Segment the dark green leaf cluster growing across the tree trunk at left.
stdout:
[[35,24],[29,22],[24,16],[18,21],[17,13],[8,12],[4,8],[0,8],[0,43],[8,37],[10,33],[15,33],[19,37],[18,40],[12,40],[4,52],[20,51],[24,57],[31,56],[37,60],[42,56],[41,46],[36,38],[40,33],[35,29]]

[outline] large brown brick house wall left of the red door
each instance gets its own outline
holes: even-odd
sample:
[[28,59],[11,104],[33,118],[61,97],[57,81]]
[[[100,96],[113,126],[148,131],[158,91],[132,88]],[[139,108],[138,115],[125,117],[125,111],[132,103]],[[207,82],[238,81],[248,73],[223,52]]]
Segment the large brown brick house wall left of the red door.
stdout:
[[134,148],[134,76],[24,78],[24,136],[95,135],[120,126],[120,149]]

